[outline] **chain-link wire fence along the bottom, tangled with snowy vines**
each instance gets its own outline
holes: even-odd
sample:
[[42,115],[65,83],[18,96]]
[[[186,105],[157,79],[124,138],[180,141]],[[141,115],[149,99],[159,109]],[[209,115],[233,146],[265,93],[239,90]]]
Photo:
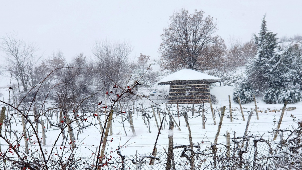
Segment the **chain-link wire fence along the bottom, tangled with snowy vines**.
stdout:
[[[192,150],[184,146],[182,150],[173,152],[171,163],[168,160],[169,154],[166,152],[158,152],[154,156],[151,154],[124,156],[119,152],[119,157],[103,160],[99,169],[278,169],[282,166],[289,167],[293,162],[292,159],[296,159],[295,166],[299,161],[301,162],[301,148],[289,151],[288,149],[292,146],[282,141],[268,142],[255,136],[246,137],[243,140],[237,139],[232,139],[234,144],[230,147],[217,144],[203,150],[200,147]],[[294,156],[295,153],[296,156]]]

